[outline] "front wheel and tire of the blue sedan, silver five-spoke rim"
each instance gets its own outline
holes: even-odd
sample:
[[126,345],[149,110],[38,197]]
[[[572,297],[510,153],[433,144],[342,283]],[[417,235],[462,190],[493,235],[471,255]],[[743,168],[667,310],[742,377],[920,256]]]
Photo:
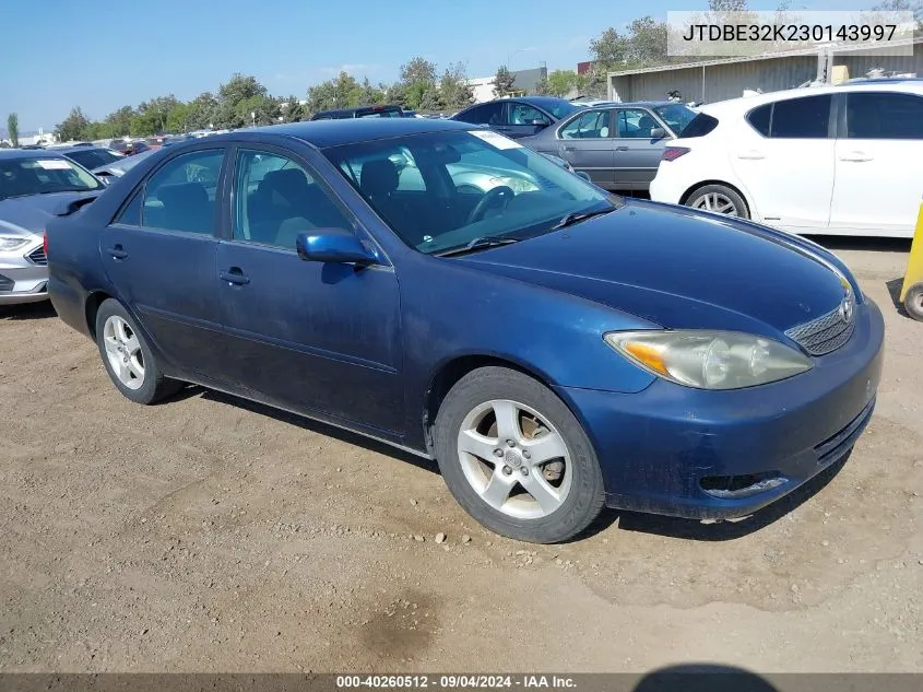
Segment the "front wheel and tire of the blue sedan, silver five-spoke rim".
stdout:
[[435,439],[449,491],[501,536],[566,541],[602,511],[603,478],[590,439],[554,392],[522,373],[482,367],[462,377],[439,408]]

